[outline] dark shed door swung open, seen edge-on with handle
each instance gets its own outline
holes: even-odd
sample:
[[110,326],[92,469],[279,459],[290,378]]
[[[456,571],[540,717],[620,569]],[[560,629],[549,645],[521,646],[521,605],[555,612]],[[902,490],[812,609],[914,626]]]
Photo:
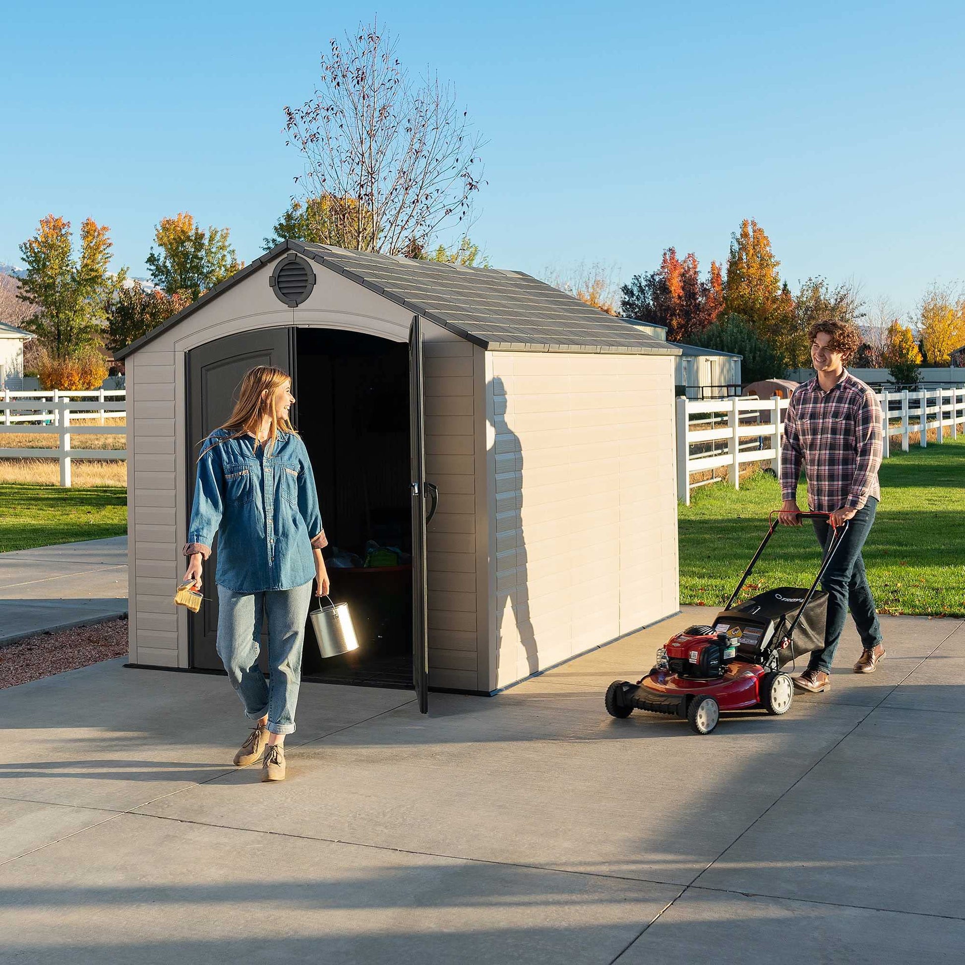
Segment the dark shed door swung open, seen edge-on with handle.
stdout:
[[[422,320],[412,319],[409,334],[409,420],[412,461],[412,683],[419,709],[428,712],[428,603],[426,524],[438,503],[438,493],[426,482],[426,428],[423,399]],[[432,509],[426,514],[427,496]]]

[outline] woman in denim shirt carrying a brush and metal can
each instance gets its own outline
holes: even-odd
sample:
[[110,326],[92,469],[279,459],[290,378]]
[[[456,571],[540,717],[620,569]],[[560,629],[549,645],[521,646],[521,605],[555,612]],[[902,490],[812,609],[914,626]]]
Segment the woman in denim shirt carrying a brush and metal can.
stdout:
[[[305,620],[328,593],[327,544],[312,464],[289,421],[291,379],[258,366],[241,382],[231,419],[205,440],[184,555],[185,582],[200,589],[218,537],[218,656],[255,727],[234,763],[262,761],[262,781],[285,780],[285,735],[295,729]],[[265,683],[258,668],[268,619]]]

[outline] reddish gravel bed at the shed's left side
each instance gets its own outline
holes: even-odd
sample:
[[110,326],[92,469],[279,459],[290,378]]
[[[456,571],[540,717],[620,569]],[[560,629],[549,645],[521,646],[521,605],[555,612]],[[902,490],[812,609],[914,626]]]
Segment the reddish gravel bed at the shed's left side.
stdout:
[[0,647],[0,690],[126,654],[126,617],[38,633]]

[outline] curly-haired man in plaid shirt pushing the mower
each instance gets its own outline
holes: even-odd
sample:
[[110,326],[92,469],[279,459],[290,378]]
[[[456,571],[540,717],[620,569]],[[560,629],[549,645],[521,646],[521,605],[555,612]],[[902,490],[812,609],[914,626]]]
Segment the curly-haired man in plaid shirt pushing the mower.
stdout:
[[[831,662],[849,608],[864,647],[854,665],[855,673],[874,673],[885,655],[861,557],[881,498],[881,407],[869,387],[844,369],[861,345],[853,325],[818,321],[808,338],[817,375],[791,396],[787,407],[780,519],[786,526],[801,525],[796,493],[803,466],[811,510],[830,512],[836,526],[848,524],[821,581],[828,593],[824,649],[815,650],[808,669],[794,678],[802,690],[819,694],[831,686]],[[824,519],[815,519],[813,524],[818,541],[826,548],[832,527]]]

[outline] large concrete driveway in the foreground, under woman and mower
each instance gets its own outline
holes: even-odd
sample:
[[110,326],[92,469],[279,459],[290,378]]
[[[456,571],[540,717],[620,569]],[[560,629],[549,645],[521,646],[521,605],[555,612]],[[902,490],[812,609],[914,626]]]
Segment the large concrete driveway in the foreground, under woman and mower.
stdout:
[[[697,611],[706,614],[706,611]],[[0,694],[0,961],[960,962],[965,621],[706,737],[635,713],[694,613],[496,698],[306,684],[289,780],[220,676]]]

